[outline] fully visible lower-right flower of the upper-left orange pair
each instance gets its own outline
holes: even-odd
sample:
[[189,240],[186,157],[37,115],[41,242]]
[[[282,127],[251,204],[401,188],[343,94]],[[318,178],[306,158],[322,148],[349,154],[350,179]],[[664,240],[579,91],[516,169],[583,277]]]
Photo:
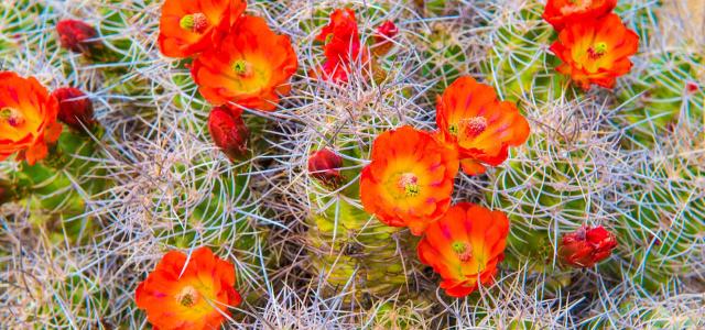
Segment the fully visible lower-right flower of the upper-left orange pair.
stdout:
[[279,95],[291,90],[296,54],[288,36],[272,32],[263,19],[243,16],[220,46],[198,56],[191,74],[203,97],[228,105],[271,111]]

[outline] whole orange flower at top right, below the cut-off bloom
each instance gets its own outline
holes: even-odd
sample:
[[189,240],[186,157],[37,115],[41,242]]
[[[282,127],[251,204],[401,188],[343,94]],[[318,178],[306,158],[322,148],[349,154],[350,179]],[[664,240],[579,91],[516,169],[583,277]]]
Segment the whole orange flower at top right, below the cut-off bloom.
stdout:
[[631,69],[629,56],[638,47],[637,33],[609,14],[568,23],[551,51],[563,61],[556,69],[587,90],[590,84],[612,88],[615,79]]

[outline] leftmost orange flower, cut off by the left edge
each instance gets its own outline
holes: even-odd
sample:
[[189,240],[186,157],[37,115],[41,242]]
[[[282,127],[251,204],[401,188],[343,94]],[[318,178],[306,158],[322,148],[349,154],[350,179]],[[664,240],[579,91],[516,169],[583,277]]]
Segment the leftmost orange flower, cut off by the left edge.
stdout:
[[48,154],[62,133],[58,102],[33,77],[0,72],[0,161],[18,153],[30,165]]

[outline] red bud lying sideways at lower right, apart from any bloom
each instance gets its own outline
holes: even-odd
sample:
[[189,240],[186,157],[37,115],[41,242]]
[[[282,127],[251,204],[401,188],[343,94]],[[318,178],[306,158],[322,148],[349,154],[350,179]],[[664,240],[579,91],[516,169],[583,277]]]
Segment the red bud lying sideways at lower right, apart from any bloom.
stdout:
[[573,267],[592,267],[607,258],[617,248],[617,239],[601,226],[583,226],[577,231],[563,235],[558,256]]

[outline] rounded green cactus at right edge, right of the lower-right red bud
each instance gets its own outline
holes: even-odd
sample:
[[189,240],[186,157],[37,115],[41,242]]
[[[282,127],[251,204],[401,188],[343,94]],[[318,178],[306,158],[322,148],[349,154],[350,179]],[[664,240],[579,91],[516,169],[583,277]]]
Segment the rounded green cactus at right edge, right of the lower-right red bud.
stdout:
[[633,179],[621,198],[628,211],[619,217],[620,268],[654,293],[703,272],[705,168],[702,156],[674,155],[694,145],[681,139],[636,156]]

